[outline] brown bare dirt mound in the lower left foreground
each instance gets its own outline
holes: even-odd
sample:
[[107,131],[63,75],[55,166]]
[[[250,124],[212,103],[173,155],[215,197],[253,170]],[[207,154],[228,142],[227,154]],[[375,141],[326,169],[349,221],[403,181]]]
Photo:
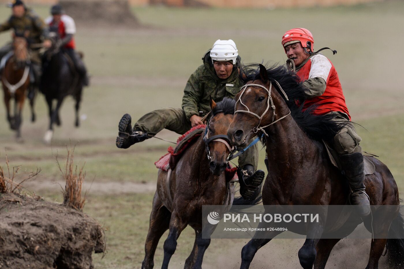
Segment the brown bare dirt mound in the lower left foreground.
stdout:
[[100,225],[62,204],[0,193],[0,268],[93,268]]

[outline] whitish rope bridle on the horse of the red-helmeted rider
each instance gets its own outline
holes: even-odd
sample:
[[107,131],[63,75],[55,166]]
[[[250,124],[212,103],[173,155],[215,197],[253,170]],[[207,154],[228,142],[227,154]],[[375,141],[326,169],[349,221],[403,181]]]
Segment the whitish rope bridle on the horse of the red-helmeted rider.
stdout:
[[[289,101],[288,96],[286,95],[286,93],[284,92],[284,90],[282,89],[282,87],[280,86],[280,84],[279,84],[276,80],[274,80],[274,81],[275,81],[276,85],[278,85],[280,91],[283,93],[283,95],[284,95],[286,101]],[[243,96],[244,92],[246,91],[246,89],[247,89],[249,86],[261,87],[261,88],[263,88],[263,89],[268,93],[267,108],[265,109],[265,111],[262,113],[261,116],[258,116],[256,113],[250,111],[250,109],[249,109],[246,105],[244,105],[244,103],[241,101],[241,97]],[[257,117],[257,118],[259,119],[259,122],[258,122],[257,126],[255,126],[254,128],[252,128],[252,132],[254,132],[255,134],[256,134],[258,131],[261,130],[266,136],[268,136],[268,134],[265,132],[264,128],[267,128],[268,126],[271,126],[272,124],[274,124],[274,123],[276,123],[276,122],[278,122],[278,121],[282,120],[283,118],[286,118],[287,116],[290,115],[290,110],[289,110],[289,113],[288,113],[287,115],[282,116],[282,117],[279,118],[278,120],[275,120],[275,116],[277,116],[277,114],[275,113],[276,107],[275,107],[274,101],[272,100],[272,97],[271,97],[271,90],[272,90],[272,81],[271,81],[271,80],[269,81],[269,89],[267,89],[265,86],[262,86],[262,85],[259,85],[259,84],[246,84],[246,85],[242,86],[241,90],[242,90],[242,92],[241,92],[241,94],[240,94],[240,97],[238,98],[238,100],[236,101],[236,104],[234,105],[234,110],[235,110],[234,114],[236,114],[236,113],[238,113],[238,112],[244,112],[244,113],[252,114],[252,115],[254,115],[255,117]],[[236,110],[236,106],[237,106],[237,103],[238,103],[238,102],[240,102],[240,104],[244,105],[244,107],[246,107],[247,110],[241,110],[241,109]],[[269,108],[271,108],[272,111],[273,111],[271,123],[270,123],[270,124],[267,124],[267,125],[265,125],[265,126],[259,126],[259,125],[261,124],[261,120],[264,118],[264,116],[265,116],[265,114],[268,112]],[[245,141],[246,139],[247,139],[247,135],[246,135],[246,137],[244,138],[244,141]]]

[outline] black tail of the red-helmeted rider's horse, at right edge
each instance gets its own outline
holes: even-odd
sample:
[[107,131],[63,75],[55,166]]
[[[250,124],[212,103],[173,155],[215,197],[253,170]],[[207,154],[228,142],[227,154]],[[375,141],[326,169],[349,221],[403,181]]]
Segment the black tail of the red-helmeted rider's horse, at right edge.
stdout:
[[[386,244],[387,261],[390,268],[404,267],[404,218],[399,212],[391,222]],[[391,239],[394,238],[394,239]]]

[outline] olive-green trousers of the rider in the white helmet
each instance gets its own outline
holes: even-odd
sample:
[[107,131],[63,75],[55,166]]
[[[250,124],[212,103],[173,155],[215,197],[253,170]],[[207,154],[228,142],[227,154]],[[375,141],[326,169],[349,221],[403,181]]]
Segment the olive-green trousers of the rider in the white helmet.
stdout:
[[[164,107],[145,114],[135,123],[133,129],[142,130],[149,135],[156,135],[163,129],[183,135],[191,127],[191,122],[187,120],[185,112],[181,108]],[[257,170],[258,143],[238,157],[240,167],[244,167],[246,164],[254,166],[254,169]]]

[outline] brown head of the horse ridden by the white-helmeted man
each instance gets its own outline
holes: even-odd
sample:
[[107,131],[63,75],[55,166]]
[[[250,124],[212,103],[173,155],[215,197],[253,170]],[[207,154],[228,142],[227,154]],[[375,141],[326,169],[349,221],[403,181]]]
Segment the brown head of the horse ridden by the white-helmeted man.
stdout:
[[206,125],[204,142],[210,160],[210,170],[217,176],[227,168],[228,157],[234,151],[227,137],[227,128],[233,119],[234,104],[234,100],[229,98],[219,103],[210,99],[212,117]]

